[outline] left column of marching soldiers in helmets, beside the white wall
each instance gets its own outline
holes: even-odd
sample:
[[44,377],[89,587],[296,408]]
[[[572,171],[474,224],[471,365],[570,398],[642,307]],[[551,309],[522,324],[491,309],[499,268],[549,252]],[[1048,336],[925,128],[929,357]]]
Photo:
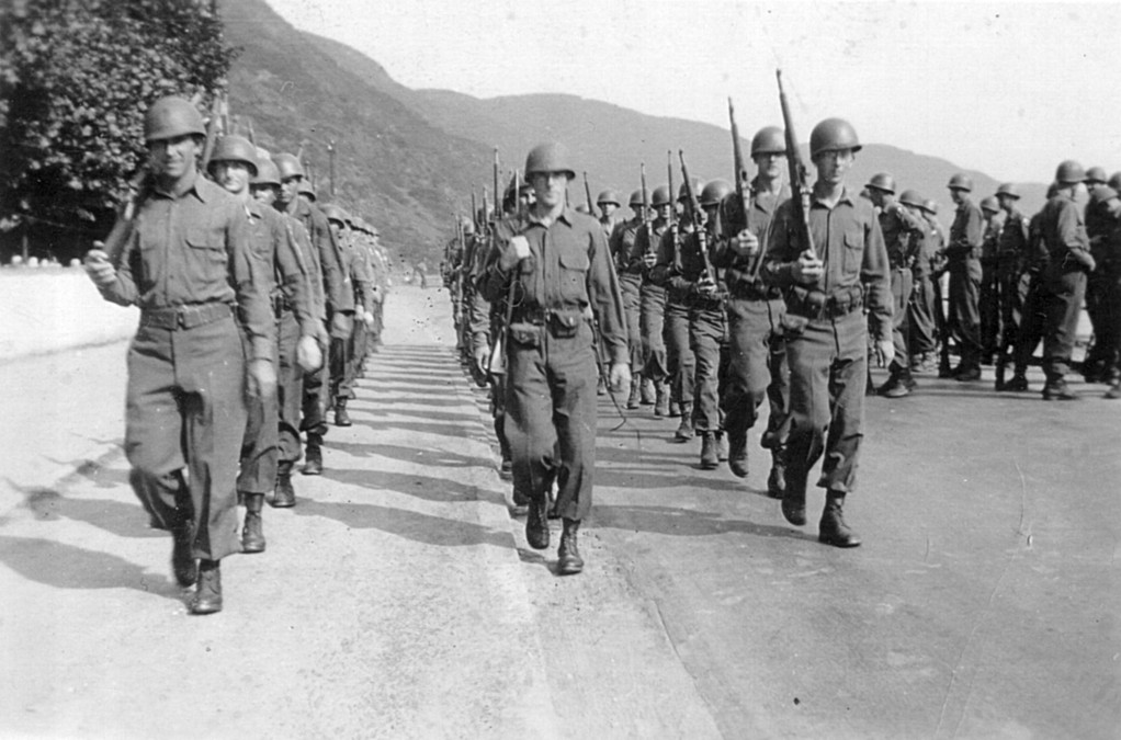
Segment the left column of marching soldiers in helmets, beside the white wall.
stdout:
[[196,586],[194,614],[222,609],[222,559],[265,551],[268,494],[295,506],[300,432],[304,472],[322,472],[326,405],[349,424],[386,285],[372,229],[349,216],[340,225],[336,206],[328,219],[314,193],[302,196],[297,157],[234,135],[211,148],[213,136],[189,101],[154,103],[131,215],[86,257],[106,300],[140,307],[128,354],[130,483],[152,526],[172,534],[172,571]]

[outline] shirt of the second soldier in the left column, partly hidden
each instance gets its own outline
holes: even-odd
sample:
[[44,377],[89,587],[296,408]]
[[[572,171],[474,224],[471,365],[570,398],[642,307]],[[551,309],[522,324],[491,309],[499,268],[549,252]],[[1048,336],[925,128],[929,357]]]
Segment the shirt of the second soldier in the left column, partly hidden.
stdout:
[[300,334],[315,336],[318,332],[312,312],[311,271],[285,216],[256,201],[245,203],[245,215],[253,255],[265,265],[272,266],[271,274],[267,274],[272,278],[269,295],[284,294],[296,315]]

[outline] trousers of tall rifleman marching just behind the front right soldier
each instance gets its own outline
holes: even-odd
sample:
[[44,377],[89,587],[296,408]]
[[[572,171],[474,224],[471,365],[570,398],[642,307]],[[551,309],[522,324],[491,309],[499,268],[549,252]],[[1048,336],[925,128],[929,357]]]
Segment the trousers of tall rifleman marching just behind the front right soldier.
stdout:
[[729,438],[747,436],[767,399],[762,446],[781,450],[786,445],[790,372],[782,337],[785,313],[786,304],[781,298],[731,298],[728,303],[731,368],[721,408]]

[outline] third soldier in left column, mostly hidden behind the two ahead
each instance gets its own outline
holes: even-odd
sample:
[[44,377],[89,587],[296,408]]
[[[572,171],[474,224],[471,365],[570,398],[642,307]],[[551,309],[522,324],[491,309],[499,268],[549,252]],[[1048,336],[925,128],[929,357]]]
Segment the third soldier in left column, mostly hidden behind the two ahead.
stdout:
[[[319,278],[318,255],[312,247],[312,240],[307,235],[304,224],[286,213],[276,210],[277,197],[280,193],[280,172],[277,169],[267,151],[258,150],[257,177],[253,178],[250,189],[253,197],[261,205],[272,209],[285,223],[289,237],[303,256],[303,263],[307,271],[307,297],[309,311],[314,324],[315,357],[318,362],[314,364],[303,363],[297,357],[300,344],[307,343],[304,339],[313,327],[302,325],[295,313],[295,305],[282,295],[279,300],[274,300],[274,308],[277,314],[277,351],[279,364],[277,368],[277,407],[279,411],[279,434],[277,438],[277,478],[276,488],[270,506],[278,509],[288,508],[296,505],[296,491],[291,484],[291,471],[303,455],[299,441],[300,408],[304,400],[304,376],[323,364],[322,348],[328,343],[326,320],[327,309],[323,297],[323,280]],[[309,353],[305,349],[305,353]],[[306,366],[306,367],[303,367]]]

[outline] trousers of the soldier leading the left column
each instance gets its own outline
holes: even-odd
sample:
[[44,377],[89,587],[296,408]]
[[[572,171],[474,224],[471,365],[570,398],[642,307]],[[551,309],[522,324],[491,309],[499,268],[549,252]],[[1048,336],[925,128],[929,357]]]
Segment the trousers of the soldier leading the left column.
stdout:
[[235,481],[245,355],[233,315],[194,329],[141,325],[128,373],[124,453],[132,490],[160,528],[192,527],[194,557],[241,552]]

